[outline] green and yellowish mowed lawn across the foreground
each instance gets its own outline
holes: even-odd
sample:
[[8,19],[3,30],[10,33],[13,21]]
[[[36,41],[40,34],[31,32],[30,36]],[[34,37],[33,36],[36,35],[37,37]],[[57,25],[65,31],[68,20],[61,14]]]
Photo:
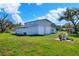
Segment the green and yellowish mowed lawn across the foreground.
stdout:
[[79,36],[74,41],[57,41],[58,34],[16,36],[0,33],[1,56],[79,56]]

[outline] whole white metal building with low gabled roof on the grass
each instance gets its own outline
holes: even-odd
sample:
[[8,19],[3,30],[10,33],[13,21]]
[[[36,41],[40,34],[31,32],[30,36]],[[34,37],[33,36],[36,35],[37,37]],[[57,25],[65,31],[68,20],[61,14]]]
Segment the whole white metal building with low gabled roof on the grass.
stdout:
[[17,35],[48,35],[56,33],[55,24],[47,19],[26,22],[15,29]]

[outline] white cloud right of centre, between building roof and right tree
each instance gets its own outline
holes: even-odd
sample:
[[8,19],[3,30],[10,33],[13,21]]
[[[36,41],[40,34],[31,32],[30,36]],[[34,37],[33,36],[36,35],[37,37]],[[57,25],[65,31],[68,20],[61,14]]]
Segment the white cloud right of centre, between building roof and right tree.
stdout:
[[[40,16],[37,19],[48,19],[53,23],[58,23],[59,22],[58,19],[60,18],[60,15],[62,15],[64,11],[66,11],[66,8],[58,8],[56,10],[50,10],[46,15]],[[59,24],[61,23],[59,22]]]

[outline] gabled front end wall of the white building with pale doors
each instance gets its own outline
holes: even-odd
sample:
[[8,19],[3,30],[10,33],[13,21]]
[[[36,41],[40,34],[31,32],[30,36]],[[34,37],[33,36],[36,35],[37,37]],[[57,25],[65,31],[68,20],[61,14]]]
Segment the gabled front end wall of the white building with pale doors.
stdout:
[[51,23],[47,21],[39,22],[38,32],[41,35],[51,34],[52,33]]

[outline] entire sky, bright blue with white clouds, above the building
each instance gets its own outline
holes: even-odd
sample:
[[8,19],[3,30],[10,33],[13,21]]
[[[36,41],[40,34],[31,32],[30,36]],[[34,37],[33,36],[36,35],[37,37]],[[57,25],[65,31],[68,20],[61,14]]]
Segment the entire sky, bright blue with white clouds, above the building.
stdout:
[[58,21],[66,8],[79,8],[79,3],[15,3],[0,4],[0,12],[4,10],[11,15],[15,23],[24,23],[46,18],[57,25],[66,21]]

